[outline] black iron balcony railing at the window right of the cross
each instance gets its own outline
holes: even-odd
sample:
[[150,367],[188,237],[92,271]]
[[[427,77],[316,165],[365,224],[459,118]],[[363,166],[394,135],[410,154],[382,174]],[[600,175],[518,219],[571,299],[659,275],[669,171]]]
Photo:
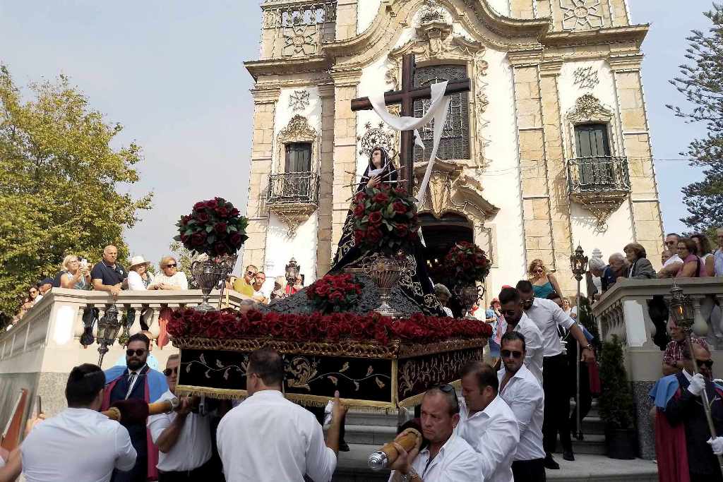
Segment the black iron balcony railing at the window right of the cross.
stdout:
[[630,192],[628,158],[594,156],[568,160],[571,195]]

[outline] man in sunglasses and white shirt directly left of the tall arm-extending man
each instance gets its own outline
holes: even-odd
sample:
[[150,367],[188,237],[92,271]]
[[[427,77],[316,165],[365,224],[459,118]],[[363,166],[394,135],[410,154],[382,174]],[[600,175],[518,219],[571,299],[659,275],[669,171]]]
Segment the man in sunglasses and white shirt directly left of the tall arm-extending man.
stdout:
[[542,332],[523,311],[520,293],[515,288],[502,288],[499,299],[500,311],[507,322],[507,332],[518,332],[525,337],[525,366],[542,384]]

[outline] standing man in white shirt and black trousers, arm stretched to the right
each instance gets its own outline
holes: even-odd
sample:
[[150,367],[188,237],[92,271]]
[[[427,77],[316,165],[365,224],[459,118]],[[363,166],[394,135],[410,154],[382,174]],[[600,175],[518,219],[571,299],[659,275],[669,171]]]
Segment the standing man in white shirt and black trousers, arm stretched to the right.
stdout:
[[586,363],[595,361],[595,352],[586,339],[583,330],[578,327],[575,320],[570,318],[555,301],[535,298],[532,285],[527,280],[517,283],[520,292],[522,307],[530,319],[542,332],[544,358],[542,358],[542,390],[544,390],[544,423],[542,435],[544,441],[545,467],[559,469],[560,465],[552,458],[557,446],[557,432],[560,432],[562,443],[562,458],[575,460],[573,455],[573,442],[570,439],[570,387],[566,384],[565,376],[568,369],[568,360],[562,350],[558,327],[565,328],[570,335],[580,343],[583,348],[581,360]]

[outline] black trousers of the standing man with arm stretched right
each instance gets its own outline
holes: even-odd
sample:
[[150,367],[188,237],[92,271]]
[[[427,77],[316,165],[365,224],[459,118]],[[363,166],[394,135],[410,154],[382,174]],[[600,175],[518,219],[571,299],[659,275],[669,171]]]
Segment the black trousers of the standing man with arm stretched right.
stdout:
[[546,356],[542,360],[542,390],[544,390],[544,420],[542,421],[542,447],[548,454],[557,448],[557,434],[563,450],[572,451],[570,439],[570,387],[568,387],[568,359],[564,353]]

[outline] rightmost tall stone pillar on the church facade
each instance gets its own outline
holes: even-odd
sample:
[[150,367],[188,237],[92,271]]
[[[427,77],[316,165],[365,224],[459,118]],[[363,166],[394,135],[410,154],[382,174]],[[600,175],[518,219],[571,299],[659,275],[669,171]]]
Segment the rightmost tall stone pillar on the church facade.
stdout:
[[633,234],[656,269],[660,268],[663,225],[655,179],[650,128],[640,74],[643,56],[609,59],[615,80],[617,108],[623,130],[623,155],[628,157]]

